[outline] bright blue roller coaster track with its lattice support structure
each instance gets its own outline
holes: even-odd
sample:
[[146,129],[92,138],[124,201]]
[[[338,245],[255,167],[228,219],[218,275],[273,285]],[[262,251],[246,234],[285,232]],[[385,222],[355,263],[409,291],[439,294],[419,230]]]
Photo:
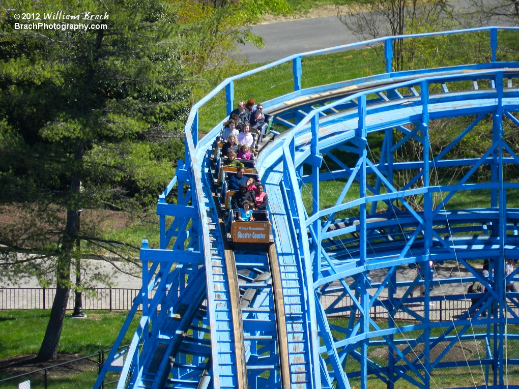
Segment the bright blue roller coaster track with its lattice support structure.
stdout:
[[[505,273],[505,261],[519,259],[519,209],[507,206],[519,183],[503,179],[519,164],[519,150],[503,129],[504,119],[517,139],[519,62],[498,61],[498,30],[519,33],[488,27],[297,54],[230,77],[195,104],[185,127],[185,162],[179,161],[157,203],[160,247],[143,242],[145,287],[94,387],[110,374],[120,377],[120,389],[519,385],[511,373],[519,365],[513,353],[519,335],[509,331],[519,324],[519,294],[506,292],[519,268]],[[487,63],[393,72],[395,39],[470,33],[488,37]],[[302,58],[366,44],[385,45],[386,73],[302,89]],[[277,128],[286,129],[257,161],[275,243],[266,253],[233,252],[214,203],[209,159],[222,122],[199,140],[199,109],[225,91],[229,114],[235,80],[288,61],[294,92],[264,102]],[[430,124],[453,117],[471,123],[434,155]],[[448,158],[485,120],[492,123],[486,152]],[[395,160],[408,142],[417,145],[418,156]],[[334,162],[333,170],[326,160]],[[453,167],[462,178],[438,182],[438,171]],[[484,169],[489,178],[475,181],[474,173]],[[322,207],[327,181],[337,198]],[[482,190],[488,206],[449,207],[456,193]],[[412,203],[417,197],[421,206]],[[482,259],[489,262],[488,276],[480,271]],[[429,261],[454,261],[470,276],[434,279]],[[421,270],[413,279],[397,277],[399,267],[415,264]],[[384,271],[381,282],[370,278],[376,271]],[[474,281],[486,288],[484,294],[466,293]],[[448,292],[455,284],[461,284],[461,294]],[[413,297],[420,285],[424,296]],[[432,286],[445,293],[431,296]],[[333,302],[324,306],[326,295]],[[345,298],[349,303],[343,306]],[[466,312],[431,320],[431,301],[448,306],[463,299],[473,299]],[[143,315],[131,345],[118,352],[140,304]],[[374,309],[387,320],[370,317]],[[399,321],[402,313],[411,321]],[[343,314],[343,325],[331,314]],[[468,342],[479,347],[476,356],[445,358]],[[377,359],[373,350],[385,350],[385,356]],[[442,381],[452,368],[461,378]]]

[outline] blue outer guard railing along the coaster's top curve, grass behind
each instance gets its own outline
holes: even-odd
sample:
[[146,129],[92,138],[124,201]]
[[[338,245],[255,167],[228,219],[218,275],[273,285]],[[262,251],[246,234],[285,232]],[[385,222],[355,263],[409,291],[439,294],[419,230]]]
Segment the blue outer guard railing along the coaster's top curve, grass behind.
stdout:
[[[228,77],[223,80],[220,85],[214,88],[195,105],[193,105],[186,122],[185,132],[192,134],[193,146],[196,147],[199,140],[199,133],[202,134],[209,132],[214,128],[214,126],[217,126],[217,124],[226,115],[229,115],[234,107],[236,107],[237,100],[247,99],[251,96],[251,93],[254,93],[256,101],[263,102],[270,101],[272,99],[276,100],[276,98],[278,98],[280,95],[290,93],[292,91],[294,93],[294,97],[296,97],[297,93],[303,88],[322,85],[323,82],[321,76],[325,77],[325,83],[344,81],[360,77],[360,75],[357,74],[354,76],[345,77],[344,73],[347,69],[352,68],[357,70],[359,67],[371,68],[371,66],[374,66],[373,63],[370,64],[368,62],[362,62],[362,57],[365,52],[362,53],[361,58],[357,58],[356,55],[353,54],[345,55],[342,59],[339,59],[339,63],[335,63],[332,66],[333,69],[337,70],[336,75],[322,75],[322,70],[320,70],[320,77],[312,80],[312,71],[309,71],[309,65],[308,63],[305,63],[305,61],[313,57],[334,53],[336,54],[344,51],[358,50],[365,48],[366,46],[380,47],[380,58],[377,58],[376,60],[372,59],[376,62],[376,70],[373,69],[373,71],[368,71],[366,74],[364,74],[364,76],[381,74],[384,72],[389,74],[395,70],[405,71],[412,70],[412,68],[439,68],[443,66],[459,65],[461,63],[488,63],[506,61],[507,58],[506,56],[502,55],[502,52],[508,50],[508,40],[498,39],[498,33],[502,32],[519,32],[519,27],[488,26],[467,30],[389,36],[342,46],[309,51],[305,53],[293,54],[290,57],[283,58],[281,60],[257,67],[248,72]],[[479,40],[477,40],[478,44],[475,44],[474,41],[470,40],[466,42],[463,41],[461,43],[458,42],[457,44],[464,48],[468,46],[484,47],[484,53],[480,53],[481,58],[470,58],[470,56],[467,57],[466,52],[457,52],[454,49],[456,44],[449,40],[456,37],[467,38],[469,35],[474,34],[479,36]],[[438,55],[432,55],[435,60],[429,59],[429,61],[424,62],[424,59],[420,58],[420,55],[418,55],[420,49],[425,50],[429,55],[431,55],[430,50],[427,51],[425,49],[425,46],[427,45],[424,43],[424,39],[436,39],[434,41],[434,47],[437,49],[442,49]],[[418,67],[404,66],[400,69],[395,68],[393,46],[396,41],[401,41],[404,47],[409,46],[409,51],[413,52],[413,61],[417,62],[415,65]],[[369,55],[367,57],[369,57]],[[397,57],[399,56],[397,55]],[[445,62],[441,60],[442,58],[448,60]],[[460,60],[461,63],[458,63]],[[359,65],[359,61],[362,62],[361,65]],[[266,83],[270,82],[273,82],[273,84],[266,85]],[[292,84],[292,82],[293,88],[290,87],[290,90],[285,90],[284,87],[281,89],[278,88],[287,83]],[[250,88],[246,87],[247,85],[253,85],[255,90],[250,90]],[[261,90],[263,86],[266,87],[265,90]],[[270,103],[266,103],[265,109],[269,105]],[[189,155],[190,152],[186,145],[186,161],[189,160]]]

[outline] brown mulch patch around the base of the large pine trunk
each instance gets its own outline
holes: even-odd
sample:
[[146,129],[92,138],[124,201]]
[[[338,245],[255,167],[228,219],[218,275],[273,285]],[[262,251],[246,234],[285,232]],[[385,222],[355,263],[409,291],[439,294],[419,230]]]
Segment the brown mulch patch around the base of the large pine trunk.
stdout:
[[[79,354],[58,354],[56,358],[51,361],[36,362],[36,354],[21,355],[14,358],[0,360],[0,375],[5,378],[14,377],[35,370],[63,364],[65,362],[69,363],[49,368],[47,370],[47,377],[67,377],[98,368],[97,355],[90,358],[75,360],[78,358],[80,358]],[[41,372],[40,374],[44,374],[44,372]]]

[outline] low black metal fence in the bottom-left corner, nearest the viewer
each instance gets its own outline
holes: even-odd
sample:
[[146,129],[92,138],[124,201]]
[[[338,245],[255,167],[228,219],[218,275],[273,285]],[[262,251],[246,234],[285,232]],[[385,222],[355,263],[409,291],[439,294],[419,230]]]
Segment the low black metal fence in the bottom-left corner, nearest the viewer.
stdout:
[[[122,348],[127,347],[123,346]],[[92,387],[98,378],[108,352],[110,350],[99,351],[69,362],[11,375],[8,378],[4,378],[6,374],[0,372],[0,389],[84,389]],[[122,363],[123,360],[120,357],[112,365],[122,366]],[[118,376],[116,375],[113,377],[107,376],[102,388],[114,388],[117,380]]]

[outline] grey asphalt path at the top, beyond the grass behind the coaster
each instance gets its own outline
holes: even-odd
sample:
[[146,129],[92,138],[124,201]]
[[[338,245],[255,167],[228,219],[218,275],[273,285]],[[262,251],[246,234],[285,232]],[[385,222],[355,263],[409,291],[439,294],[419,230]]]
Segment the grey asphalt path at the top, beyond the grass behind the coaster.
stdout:
[[[449,5],[455,10],[467,9],[468,0],[449,2]],[[240,45],[239,52],[250,63],[277,61],[292,54],[359,41],[336,17],[258,24],[252,26],[251,31],[263,37],[265,49],[258,49],[250,43]]]

